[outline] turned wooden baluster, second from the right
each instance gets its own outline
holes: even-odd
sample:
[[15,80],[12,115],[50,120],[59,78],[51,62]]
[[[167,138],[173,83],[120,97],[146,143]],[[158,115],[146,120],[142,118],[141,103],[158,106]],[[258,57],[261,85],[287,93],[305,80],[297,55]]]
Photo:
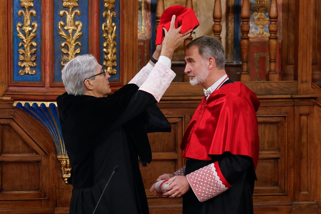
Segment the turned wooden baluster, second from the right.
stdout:
[[248,37],[248,32],[250,31],[250,5],[248,0],[243,0],[242,7],[241,7],[241,41],[240,41],[240,46],[241,46],[241,56],[242,56],[242,71],[239,73],[239,80],[240,81],[250,81],[251,77],[250,74],[248,73],[248,49],[250,45],[250,40]]

